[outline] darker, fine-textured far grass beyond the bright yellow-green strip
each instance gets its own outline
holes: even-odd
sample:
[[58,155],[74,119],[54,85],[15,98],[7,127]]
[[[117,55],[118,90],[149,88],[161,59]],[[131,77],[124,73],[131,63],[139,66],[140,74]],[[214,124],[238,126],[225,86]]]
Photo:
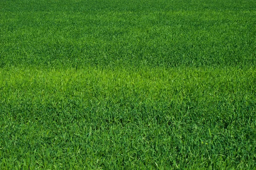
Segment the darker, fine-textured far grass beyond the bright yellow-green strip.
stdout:
[[1,0],[0,67],[252,67],[255,8],[255,0]]

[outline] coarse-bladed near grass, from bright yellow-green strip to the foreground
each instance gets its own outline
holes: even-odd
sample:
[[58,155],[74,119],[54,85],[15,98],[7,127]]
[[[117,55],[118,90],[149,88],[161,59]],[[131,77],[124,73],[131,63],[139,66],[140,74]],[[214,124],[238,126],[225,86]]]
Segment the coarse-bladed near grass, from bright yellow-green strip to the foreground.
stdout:
[[0,169],[256,166],[256,69],[0,69]]

